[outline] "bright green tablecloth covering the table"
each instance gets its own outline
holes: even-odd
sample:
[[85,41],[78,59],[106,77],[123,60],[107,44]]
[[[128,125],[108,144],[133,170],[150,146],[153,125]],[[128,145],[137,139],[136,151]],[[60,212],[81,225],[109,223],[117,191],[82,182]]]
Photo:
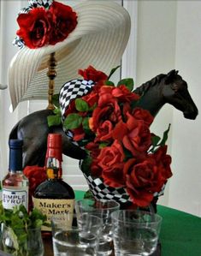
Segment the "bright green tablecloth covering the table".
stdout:
[[[76,191],[76,199],[84,193]],[[162,256],[201,256],[201,218],[183,211],[157,205],[163,217],[160,234]]]

